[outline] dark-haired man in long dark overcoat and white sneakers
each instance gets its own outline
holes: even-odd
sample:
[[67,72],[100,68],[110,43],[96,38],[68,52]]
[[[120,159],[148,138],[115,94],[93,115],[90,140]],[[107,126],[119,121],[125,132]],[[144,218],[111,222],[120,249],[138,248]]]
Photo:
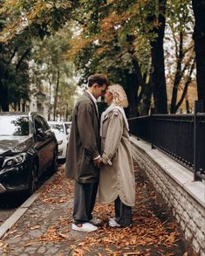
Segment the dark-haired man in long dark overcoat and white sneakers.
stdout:
[[88,89],[76,103],[65,164],[65,175],[75,180],[72,229],[82,232],[97,230],[99,219],[92,218],[99,183],[99,110],[97,99],[106,93],[104,74],[88,78]]

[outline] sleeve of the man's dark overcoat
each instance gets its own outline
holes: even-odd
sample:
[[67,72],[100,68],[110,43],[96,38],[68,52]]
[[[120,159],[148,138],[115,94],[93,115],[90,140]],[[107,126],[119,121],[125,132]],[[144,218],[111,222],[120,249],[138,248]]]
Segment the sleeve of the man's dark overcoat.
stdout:
[[77,124],[82,146],[86,149],[87,154],[90,155],[92,159],[96,158],[99,156],[99,149],[92,125],[92,106],[90,103],[79,103]]

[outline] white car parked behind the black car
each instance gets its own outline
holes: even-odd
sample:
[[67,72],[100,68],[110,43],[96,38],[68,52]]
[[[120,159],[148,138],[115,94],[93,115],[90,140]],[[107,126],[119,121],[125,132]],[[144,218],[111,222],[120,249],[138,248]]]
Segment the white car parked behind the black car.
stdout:
[[58,159],[65,160],[69,135],[67,134],[65,123],[61,121],[48,121],[51,130],[55,133],[58,141]]

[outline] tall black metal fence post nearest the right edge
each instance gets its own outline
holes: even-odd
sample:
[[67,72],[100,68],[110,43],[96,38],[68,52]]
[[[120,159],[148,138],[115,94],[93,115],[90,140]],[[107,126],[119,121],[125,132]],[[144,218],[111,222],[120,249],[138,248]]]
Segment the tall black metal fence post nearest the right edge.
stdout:
[[201,178],[197,176],[197,170],[199,170],[199,163],[198,163],[198,157],[197,154],[199,154],[199,148],[198,143],[200,142],[199,138],[199,119],[197,118],[198,113],[203,112],[203,101],[202,100],[195,100],[195,118],[194,118],[194,170],[195,170],[195,176],[194,181],[200,181]]

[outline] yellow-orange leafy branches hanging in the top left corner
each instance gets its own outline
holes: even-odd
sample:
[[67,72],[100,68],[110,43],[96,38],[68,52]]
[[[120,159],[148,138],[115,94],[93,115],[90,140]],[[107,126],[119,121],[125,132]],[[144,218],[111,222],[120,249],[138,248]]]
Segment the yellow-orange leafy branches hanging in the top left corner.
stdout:
[[30,37],[51,35],[62,28],[70,17],[72,2],[68,0],[9,0],[0,3],[0,15],[5,18],[1,39],[9,41],[19,33]]

